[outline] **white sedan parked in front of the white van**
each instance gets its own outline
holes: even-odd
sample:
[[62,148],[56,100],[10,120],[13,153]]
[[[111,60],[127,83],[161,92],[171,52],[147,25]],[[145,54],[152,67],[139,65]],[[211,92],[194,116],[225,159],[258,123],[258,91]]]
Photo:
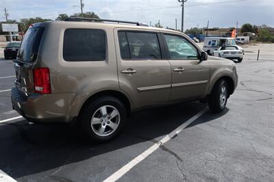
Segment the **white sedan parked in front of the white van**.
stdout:
[[213,55],[242,62],[244,53],[237,46],[224,46],[220,47],[217,51],[213,51]]

